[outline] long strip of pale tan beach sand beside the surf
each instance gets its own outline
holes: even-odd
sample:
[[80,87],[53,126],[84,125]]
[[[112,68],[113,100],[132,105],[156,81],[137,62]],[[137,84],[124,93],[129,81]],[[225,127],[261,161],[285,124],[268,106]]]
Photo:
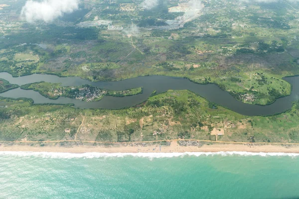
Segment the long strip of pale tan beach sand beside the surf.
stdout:
[[219,152],[219,151],[246,151],[246,152],[265,152],[265,153],[299,153],[299,146],[282,146],[282,145],[243,145],[243,144],[212,144],[197,146],[179,146],[177,142],[172,141],[170,146],[30,146],[30,145],[0,145],[0,151],[32,151],[32,152],[68,152],[68,153],[85,153],[85,152],[106,152],[106,153],[138,153],[138,152]]

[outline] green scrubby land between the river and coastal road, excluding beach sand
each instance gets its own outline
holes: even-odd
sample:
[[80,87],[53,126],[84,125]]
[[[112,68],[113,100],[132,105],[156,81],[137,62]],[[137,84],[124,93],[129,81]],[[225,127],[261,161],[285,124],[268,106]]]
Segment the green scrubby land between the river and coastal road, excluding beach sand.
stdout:
[[[0,140],[26,139],[125,142],[167,139],[299,143],[299,101],[273,116],[244,116],[189,91],[168,91],[144,104],[121,110],[32,105],[28,100],[0,100]],[[13,133],[11,133],[13,132]]]

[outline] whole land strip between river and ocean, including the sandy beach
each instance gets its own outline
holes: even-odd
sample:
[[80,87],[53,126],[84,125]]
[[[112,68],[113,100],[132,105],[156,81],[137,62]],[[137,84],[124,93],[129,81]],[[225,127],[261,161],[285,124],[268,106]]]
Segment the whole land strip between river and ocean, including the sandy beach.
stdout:
[[299,101],[271,116],[241,115],[172,90],[117,110],[5,98],[0,105],[0,150],[299,152]]

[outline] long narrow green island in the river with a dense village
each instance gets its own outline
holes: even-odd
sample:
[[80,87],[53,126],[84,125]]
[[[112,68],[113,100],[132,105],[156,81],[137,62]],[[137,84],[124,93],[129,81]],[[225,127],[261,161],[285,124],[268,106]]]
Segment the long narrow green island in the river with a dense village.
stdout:
[[101,89],[90,85],[83,85],[80,87],[63,87],[61,83],[47,83],[37,82],[33,84],[26,84],[20,87],[24,90],[33,90],[40,93],[42,96],[57,100],[60,96],[79,99],[83,101],[99,101],[104,96],[125,97],[133,96],[143,93],[143,88],[134,88],[123,91],[113,91],[108,89]]

